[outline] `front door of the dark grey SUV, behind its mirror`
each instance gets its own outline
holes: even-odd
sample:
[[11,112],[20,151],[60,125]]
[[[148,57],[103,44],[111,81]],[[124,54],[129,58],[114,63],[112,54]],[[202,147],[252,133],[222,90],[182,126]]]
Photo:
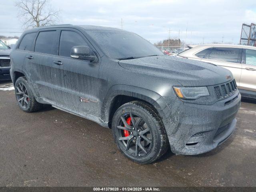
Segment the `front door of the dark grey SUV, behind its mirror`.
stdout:
[[70,112],[98,116],[99,92],[102,86],[101,80],[98,79],[100,63],[70,57],[73,46],[90,47],[81,32],[63,29],[59,35],[58,56],[53,62],[52,70],[56,105]]

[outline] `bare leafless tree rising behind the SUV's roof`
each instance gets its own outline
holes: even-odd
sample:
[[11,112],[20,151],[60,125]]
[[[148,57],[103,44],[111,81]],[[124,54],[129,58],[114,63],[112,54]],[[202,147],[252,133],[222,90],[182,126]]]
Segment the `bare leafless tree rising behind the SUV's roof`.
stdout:
[[26,27],[48,26],[59,20],[60,11],[53,10],[49,0],[18,0],[15,6]]

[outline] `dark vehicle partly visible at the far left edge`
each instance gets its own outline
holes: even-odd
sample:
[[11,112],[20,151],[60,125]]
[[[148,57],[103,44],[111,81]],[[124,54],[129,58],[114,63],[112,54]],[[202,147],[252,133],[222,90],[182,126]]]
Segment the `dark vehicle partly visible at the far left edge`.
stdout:
[[10,47],[0,40],[0,80],[10,80]]

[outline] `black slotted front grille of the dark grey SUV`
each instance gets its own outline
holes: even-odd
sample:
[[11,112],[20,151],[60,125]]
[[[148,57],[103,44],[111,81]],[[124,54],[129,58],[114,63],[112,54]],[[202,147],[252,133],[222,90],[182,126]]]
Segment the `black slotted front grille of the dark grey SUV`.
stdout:
[[214,86],[214,92],[216,94],[217,99],[226,98],[230,96],[230,94],[234,93],[236,90],[237,85],[235,80],[232,80],[225,84]]

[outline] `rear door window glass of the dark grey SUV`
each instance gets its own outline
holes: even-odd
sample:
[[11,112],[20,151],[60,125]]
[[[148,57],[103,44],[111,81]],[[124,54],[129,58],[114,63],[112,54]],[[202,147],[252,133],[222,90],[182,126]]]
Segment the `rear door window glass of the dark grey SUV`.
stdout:
[[35,52],[57,55],[56,31],[42,31],[36,38]]

